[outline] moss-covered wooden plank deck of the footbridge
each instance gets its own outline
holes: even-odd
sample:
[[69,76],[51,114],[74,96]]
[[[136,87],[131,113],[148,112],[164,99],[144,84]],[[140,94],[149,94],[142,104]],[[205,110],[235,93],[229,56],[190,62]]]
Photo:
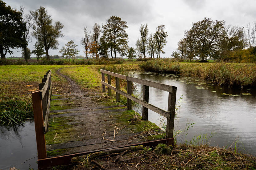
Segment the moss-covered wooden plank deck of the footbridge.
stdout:
[[[72,79],[68,82],[78,87]],[[52,95],[48,122],[47,157],[165,138],[154,123],[142,121],[137,113],[99,91]]]

